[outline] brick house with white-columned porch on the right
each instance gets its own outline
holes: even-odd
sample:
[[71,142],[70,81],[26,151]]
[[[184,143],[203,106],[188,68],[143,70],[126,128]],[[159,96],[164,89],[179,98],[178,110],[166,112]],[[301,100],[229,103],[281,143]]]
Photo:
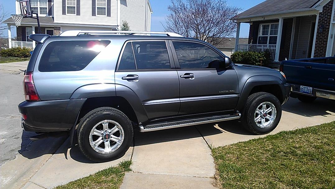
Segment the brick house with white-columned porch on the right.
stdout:
[[[334,56],[334,0],[266,0],[234,17],[235,51],[267,51],[274,61]],[[249,23],[248,44],[239,42]]]

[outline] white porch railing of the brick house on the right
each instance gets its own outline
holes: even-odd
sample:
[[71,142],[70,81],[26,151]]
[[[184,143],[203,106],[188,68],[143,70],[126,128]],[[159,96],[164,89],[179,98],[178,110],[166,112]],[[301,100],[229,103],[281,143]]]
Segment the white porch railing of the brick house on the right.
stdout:
[[270,53],[270,58],[274,60],[276,55],[276,45],[239,44],[237,51],[268,52]]

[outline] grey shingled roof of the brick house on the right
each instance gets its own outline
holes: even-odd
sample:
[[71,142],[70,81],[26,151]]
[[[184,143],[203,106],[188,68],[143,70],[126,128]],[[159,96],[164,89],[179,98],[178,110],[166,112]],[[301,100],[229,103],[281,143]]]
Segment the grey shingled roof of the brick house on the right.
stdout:
[[240,17],[252,17],[259,14],[271,14],[285,11],[293,11],[300,9],[313,8],[319,1],[322,0],[266,0],[240,14],[233,19]]

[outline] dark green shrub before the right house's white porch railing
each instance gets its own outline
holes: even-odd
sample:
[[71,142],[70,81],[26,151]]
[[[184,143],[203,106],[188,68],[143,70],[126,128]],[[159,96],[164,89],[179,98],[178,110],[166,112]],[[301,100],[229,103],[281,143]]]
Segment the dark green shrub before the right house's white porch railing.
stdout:
[[231,60],[237,64],[265,65],[270,59],[268,52],[237,51],[231,55]]

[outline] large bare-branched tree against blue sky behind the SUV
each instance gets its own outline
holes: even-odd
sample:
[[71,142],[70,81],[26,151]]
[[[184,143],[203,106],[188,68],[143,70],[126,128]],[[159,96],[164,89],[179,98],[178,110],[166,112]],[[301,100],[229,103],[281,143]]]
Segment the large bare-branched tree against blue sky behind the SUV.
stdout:
[[225,0],[171,0],[167,9],[166,32],[197,38],[216,46],[225,37],[235,34],[237,25],[232,20],[242,9],[232,7]]

